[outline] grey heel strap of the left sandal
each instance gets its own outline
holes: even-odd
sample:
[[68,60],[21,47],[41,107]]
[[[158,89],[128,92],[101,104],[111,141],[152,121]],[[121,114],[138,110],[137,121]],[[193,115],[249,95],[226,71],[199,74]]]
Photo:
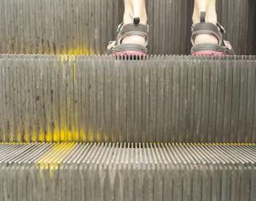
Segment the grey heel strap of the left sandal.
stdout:
[[122,23],[118,26],[118,29],[117,29],[118,35],[117,35],[116,45],[120,45],[124,37],[134,36],[134,35],[144,37],[147,45],[148,31],[149,31],[148,25],[133,24],[133,23],[124,25]]

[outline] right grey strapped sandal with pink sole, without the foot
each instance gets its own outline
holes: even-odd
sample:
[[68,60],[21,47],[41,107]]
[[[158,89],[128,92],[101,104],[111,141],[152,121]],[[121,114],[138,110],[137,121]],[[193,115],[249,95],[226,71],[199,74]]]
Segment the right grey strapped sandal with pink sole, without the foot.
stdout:
[[[210,22],[205,22],[205,12],[200,13],[200,23],[192,25],[192,56],[225,56],[234,55],[233,48],[229,41],[224,41],[222,34],[226,31],[223,26],[218,22],[213,24]],[[210,34],[218,39],[218,45],[215,44],[200,44],[195,45],[196,36],[199,34]]]

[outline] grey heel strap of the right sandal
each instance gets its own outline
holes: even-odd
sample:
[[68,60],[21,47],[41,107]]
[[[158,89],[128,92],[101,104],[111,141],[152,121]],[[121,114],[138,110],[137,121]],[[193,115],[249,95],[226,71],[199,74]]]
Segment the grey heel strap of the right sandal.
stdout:
[[225,29],[219,23],[217,23],[217,25],[210,22],[200,22],[193,24],[191,36],[192,45],[195,45],[196,36],[199,34],[210,34],[218,39],[218,45],[222,45],[222,32],[224,33]]

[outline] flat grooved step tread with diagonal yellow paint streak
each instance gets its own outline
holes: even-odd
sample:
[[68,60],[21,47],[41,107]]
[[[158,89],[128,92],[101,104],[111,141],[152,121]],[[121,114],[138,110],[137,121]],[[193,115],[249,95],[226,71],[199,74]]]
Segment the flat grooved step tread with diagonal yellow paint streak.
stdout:
[[[225,166],[228,164],[254,166],[256,144],[192,144],[192,143],[0,143],[0,164],[49,165],[65,164],[169,164]],[[45,166],[47,164],[47,166]],[[175,166],[177,165],[177,167]],[[57,169],[59,168],[57,166]],[[152,166],[152,168],[154,168]],[[136,167],[135,169],[139,168]],[[124,167],[125,169],[126,167]],[[162,167],[165,169],[166,167]],[[204,169],[204,168],[203,168]]]

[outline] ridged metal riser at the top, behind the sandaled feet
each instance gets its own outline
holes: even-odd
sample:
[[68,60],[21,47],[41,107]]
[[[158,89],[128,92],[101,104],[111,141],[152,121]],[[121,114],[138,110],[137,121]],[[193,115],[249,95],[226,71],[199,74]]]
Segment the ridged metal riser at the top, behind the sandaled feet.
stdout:
[[[190,53],[192,10],[192,0],[147,0],[150,53]],[[217,10],[236,53],[256,54],[256,1]],[[100,54],[122,18],[123,0],[1,0],[0,53]]]

